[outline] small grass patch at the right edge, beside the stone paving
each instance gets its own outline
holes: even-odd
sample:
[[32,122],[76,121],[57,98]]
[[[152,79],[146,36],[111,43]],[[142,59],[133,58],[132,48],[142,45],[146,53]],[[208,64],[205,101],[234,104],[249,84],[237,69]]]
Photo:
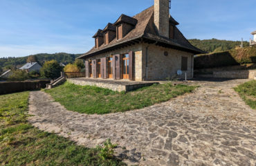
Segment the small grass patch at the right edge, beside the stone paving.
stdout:
[[256,109],[256,80],[252,80],[235,87],[235,91],[239,93],[246,104],[248,104],[252,109]]

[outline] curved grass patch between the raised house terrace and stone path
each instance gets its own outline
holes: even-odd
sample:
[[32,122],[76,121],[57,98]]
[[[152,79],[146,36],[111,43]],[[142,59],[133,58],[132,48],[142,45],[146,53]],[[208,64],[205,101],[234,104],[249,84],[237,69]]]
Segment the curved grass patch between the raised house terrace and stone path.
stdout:
[[142,109],[192,92],[195,88],[196,86],[183,84],[154,84],[136,91],[118,93],[96,86],[79,86],[66,82],[45,91],[70,111],[104,114]]

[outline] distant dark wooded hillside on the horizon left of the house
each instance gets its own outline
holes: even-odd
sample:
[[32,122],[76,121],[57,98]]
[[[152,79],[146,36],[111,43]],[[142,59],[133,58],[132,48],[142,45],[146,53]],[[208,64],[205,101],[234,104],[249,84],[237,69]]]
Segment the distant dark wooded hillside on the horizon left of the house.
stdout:
[[[35,55],[37,57],[37,60],[39,64],[44,64],[44,62],[55,59],[57,62],[74,62],[75,58],[80,56],[80,54],[68,54],[68,53],[55,53],[55,54],[47,54],[47,53],[41,53]],[[26,64],[26,59],[28,59],[28,56],[26,57],[2,57],[0,58],[0,66],[2,68],[4,67],[12,67],[15,65],[21,66],[23,64]]]

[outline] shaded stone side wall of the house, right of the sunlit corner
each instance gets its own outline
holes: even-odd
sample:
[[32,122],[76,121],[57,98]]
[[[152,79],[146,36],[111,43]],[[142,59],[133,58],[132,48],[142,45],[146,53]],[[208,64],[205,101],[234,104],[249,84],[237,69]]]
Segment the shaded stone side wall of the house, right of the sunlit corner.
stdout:
[[[165,51],[168,53],[167,56],[164,55]],[[146,56],[146,54],[148,55]],[[177,76],[176,72],[181,70],[181,57],[188,57],[188,71],[183,71],[183,75]],[[143,80],[165,80],[167,77],[184,79],[185,73],[187,73],[187,78],[193,77],[194,55],[192,53],[143,44],[143,59],[145,59],[143,61]]]

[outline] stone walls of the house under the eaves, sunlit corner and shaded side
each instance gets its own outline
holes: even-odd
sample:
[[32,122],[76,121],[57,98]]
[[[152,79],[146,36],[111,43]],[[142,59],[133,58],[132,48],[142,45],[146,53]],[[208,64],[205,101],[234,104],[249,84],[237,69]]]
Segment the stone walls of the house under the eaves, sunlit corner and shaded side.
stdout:
[[[185,79],[185,73],[188,79],[193,77],[194,55],[192,53],[155,46],[154,44],[136,44],[85,60],[100,59],[116,54],[123,55],[129,53],[130,50],[134,52],[133,75],[135,81],[166,80],[167,78]],[[167,56],[164,55],[165,52],[167,52]],[[183,71],[183,74],[179,76],[176,73],[181,70],[181,57],[188,57],[188,71]]]

